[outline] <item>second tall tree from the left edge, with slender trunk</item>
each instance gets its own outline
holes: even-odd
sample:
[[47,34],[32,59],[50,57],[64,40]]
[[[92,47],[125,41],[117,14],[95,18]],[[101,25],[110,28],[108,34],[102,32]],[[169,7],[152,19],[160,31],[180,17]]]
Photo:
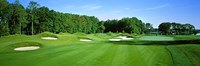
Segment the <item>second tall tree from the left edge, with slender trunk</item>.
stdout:
[[9,28],[11,34],[21,34],[22,29],[26,26],[26,11],[24,7],[16,0],[11,4],[11,17],[9,18]]

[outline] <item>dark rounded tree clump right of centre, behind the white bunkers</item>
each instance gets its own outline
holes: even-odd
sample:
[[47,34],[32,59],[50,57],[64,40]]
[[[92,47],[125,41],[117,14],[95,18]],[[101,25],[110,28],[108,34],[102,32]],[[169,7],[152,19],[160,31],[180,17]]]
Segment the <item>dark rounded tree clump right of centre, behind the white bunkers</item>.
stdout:
[[122,18],[121,20],[107,20],[104,23],[105,32],[126,32],[141,34],[144,32],[144,24],[136,17]]

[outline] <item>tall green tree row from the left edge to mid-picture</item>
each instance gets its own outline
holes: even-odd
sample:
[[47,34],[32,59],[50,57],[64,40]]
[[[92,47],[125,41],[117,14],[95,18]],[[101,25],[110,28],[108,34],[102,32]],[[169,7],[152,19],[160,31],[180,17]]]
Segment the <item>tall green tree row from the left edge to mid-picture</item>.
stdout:
[[24,8],[19,0],[0,1],[0,36],[10,34],[34,35],[44,31],[53,33],[96,33],[104,31],[94,16],[61,13],[31,1]]

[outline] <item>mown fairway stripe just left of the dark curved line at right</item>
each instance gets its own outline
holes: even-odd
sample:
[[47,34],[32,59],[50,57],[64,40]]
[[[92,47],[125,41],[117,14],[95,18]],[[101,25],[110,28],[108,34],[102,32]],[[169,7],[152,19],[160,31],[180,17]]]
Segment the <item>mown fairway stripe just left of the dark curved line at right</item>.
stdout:
[[141,52],[143,63],[147,66],[171,66],[172,61],[163,46],[137,46]]

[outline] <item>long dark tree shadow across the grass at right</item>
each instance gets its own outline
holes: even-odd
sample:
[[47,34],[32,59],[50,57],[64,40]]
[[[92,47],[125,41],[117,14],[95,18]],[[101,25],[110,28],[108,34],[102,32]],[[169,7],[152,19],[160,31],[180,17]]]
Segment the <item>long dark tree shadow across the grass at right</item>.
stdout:
[[189,45],[199,44],[200,40],[175,40],[175,41],[109,41],[117,45]]

